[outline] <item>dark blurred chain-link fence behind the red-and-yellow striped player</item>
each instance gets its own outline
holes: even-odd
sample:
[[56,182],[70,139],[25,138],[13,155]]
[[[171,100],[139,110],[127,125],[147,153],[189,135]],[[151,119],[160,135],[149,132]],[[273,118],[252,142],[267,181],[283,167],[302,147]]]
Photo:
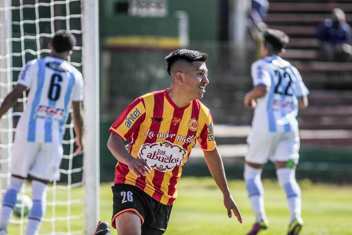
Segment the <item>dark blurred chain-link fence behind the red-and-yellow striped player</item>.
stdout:
[[[191,42],[189,49],[209,54],[206,93],[202,102],[214,122],[250,124],[251,111],[243,96],[251,89],[250,64],[256,58],[254,42],[243,46],[220,42]],[[135,98],[170,86],[164,57],[166,50],[105,50],[102,61],[102,121],[113,121]]]

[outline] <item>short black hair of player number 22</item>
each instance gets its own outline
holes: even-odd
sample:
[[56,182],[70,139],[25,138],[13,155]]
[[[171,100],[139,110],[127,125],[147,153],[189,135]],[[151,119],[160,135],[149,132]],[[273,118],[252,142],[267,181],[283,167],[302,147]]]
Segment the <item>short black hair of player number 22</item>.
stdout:
[[267,29],[263,33],[263,37],[264,45],[275,54],[279,54],[282,49],[285,49],[290,41],[289,36],[277,29]]

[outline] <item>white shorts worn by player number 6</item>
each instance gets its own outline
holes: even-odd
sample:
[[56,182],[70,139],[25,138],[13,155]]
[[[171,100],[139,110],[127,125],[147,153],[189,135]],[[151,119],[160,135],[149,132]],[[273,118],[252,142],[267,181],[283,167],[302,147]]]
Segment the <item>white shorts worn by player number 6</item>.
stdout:
[[61,141],[36,143],[15,137],[11,159],[11,174],[41,180],[59,180],[63,148]]

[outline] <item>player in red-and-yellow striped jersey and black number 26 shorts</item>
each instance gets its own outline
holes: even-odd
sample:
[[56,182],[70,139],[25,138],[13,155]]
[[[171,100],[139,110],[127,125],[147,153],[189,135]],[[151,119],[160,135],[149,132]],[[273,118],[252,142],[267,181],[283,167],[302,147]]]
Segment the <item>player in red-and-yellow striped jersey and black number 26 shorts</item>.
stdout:
[[182,167],[197,141],[228,217],[233,210],[242,222],[216,147],[212,116],[199,101],[209,83],[207,58],[199,51],[171,52],[165,57],[171,88],[137,98],[110,128],[108,147],[118,160],[112,226],[119,235],[165,232]]

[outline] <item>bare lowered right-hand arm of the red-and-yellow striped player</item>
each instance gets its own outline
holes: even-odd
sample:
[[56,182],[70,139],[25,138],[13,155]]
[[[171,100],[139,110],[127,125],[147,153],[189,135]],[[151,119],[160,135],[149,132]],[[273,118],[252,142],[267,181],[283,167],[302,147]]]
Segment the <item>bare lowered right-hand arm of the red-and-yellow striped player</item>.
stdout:
[[242,223],[241,213],[227,185],[224,165],[222,163],[222,159],[217,147],[215,147],[214,150],[212,151],[203,151],[203,152],[204,152],[204,158],[205,158],[205,161],[207,162],[209,171],[215,183],[218,185],[219,189],[223,194],[224,206],[227,209],[228,217],[229,218],[232,217],[232,212],[231,212],[232,210],[235,216],[237,217],[237,220],[240,223]]

